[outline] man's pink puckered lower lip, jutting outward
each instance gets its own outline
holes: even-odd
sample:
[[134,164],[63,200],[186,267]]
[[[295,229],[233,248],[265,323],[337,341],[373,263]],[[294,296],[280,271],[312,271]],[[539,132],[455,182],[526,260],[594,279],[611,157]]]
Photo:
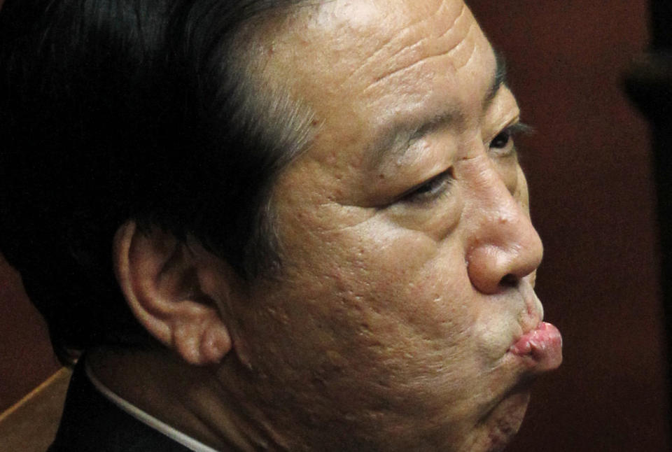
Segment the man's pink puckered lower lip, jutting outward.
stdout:
[[509,351],[525,358],[535,371],[545,372],[562,362],[562,336],[554,325],[542,322],[515,341]]

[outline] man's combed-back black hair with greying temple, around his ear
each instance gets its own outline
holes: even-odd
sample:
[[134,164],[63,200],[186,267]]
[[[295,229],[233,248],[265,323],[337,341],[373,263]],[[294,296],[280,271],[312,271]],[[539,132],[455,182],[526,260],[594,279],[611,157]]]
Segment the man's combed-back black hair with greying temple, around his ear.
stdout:
[[146,344],[113,275],[126,220],[239,274],[277,264],[269,193],[310,117],[246,71],[243,24],[297,0],[7,0],[0,249],[62,360]]

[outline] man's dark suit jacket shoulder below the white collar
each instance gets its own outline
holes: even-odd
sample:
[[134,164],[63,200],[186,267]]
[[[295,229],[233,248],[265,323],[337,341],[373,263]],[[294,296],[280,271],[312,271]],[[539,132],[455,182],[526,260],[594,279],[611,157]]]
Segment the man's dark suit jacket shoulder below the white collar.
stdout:
[[87,378],[83,360],[73,373],[56,439],[48,452],[190,452],[110,402]]

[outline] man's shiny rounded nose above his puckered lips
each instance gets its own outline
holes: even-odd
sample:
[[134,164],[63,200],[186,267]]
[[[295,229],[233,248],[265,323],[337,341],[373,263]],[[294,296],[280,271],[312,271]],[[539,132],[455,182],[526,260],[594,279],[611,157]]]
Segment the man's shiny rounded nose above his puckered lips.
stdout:
[[514,190],[515,196],[491,165],[478,174],[482,180],[475,184],[478,191],[466,261],[472,285],[479,292],[494,294],[516,287],[533,273],[541,263],[543,246],[521,204],[527,202],[522,172],[519,184],[524,187]]

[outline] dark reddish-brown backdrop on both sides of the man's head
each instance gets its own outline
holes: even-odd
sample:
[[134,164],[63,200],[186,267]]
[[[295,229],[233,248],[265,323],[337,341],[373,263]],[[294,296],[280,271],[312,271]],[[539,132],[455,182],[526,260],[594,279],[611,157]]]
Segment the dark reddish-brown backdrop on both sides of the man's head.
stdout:
[[[2,0],[0,0],[0,5]],[[623,90],[650,41],[641,0],[472,0],[523,120],[538,294],[564,338],[510,451],[668,451],[651,136]],[[55,372],[45,328],[0,263],[0,410]]]

